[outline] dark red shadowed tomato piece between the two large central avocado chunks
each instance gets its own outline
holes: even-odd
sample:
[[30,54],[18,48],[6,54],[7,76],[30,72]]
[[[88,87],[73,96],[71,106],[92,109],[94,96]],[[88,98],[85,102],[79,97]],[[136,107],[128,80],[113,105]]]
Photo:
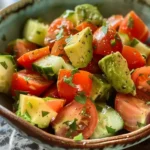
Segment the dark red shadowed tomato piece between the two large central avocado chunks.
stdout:
[[93,74],[100,73],[101,70],[98,66],[98,62],[102,58],[103,58],[102,55],[93,54],[92,61],[87,65],[87,67],[82,68],[82,70],[88,71],[88,72],[93,73]]

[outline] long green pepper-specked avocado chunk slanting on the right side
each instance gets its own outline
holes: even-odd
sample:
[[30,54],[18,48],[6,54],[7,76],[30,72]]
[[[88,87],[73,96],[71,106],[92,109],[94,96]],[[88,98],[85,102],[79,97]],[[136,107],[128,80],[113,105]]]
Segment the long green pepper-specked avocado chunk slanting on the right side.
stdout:
[[127,61],[116,52],[105,56],[98,62],[109,83],[117,92],[136,94],[134,82],[131,79]]

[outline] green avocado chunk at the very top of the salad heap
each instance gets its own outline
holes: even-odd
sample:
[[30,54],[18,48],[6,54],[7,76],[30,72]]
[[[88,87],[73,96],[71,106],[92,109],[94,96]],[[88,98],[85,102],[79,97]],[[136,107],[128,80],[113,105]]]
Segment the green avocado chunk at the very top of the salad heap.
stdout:
[[82,4],[75,7],[77,24],[88,21],[97,26],[102,24],[102,15],[97,7],[91,4]]

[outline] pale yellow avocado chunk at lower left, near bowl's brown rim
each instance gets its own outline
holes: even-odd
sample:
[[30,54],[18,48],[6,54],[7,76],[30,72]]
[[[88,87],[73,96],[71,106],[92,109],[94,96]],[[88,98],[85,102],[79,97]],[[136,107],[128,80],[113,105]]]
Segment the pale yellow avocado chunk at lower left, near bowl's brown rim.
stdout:
[[17,115],[39,128],[46,128],[57,113],[42,98],[20,94]]

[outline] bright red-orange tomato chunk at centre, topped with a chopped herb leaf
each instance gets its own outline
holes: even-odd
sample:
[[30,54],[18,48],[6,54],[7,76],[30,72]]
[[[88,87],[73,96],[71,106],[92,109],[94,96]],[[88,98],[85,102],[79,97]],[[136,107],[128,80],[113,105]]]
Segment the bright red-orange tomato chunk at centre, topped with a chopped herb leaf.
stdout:
[[66,103],[71,102],[78,91],[85,92],[89,96],[92,89],[92,80],[90,79],[91,73],[87,71],[79,71],[73,75],[72,83],[76,87],[72,87],[64,82],[64,77],[71,77],[71,70],[61,69],[58,74],[57,87],[58,93],[61,98],[66,99]]

